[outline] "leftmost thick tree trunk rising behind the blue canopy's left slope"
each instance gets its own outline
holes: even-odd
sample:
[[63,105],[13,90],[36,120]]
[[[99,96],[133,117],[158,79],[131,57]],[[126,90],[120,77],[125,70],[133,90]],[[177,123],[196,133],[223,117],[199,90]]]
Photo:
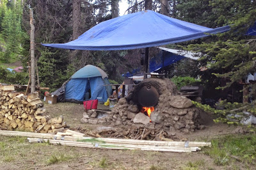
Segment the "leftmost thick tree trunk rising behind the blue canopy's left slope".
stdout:
[[80,19],[81,19],[81,0],[73,0],[73,40],[76,40],[80,35]]

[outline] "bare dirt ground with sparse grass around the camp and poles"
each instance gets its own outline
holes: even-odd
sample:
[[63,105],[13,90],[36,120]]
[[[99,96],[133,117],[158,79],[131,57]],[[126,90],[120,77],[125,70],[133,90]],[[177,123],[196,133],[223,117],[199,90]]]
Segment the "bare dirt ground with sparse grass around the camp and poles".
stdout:
[[[84,107],[81,104],[45,104],[51,117],[63,115],[71,129],[94,130],[102,125],[80,123]],[[98,109],[108,109],[99,105]],[[203,114],[204,130],[182,135],[189,141],[211,141],[231,134],[237,127],[216,124],[212,116]],[[106,126],[106,125],[104,125]],[[247,169],[236,162],[217,166],[204,150],[193,153],[167,153],[141,150],[106,150],[49,144],[29,144],[26,138],[0,136],[0,169]],[[2,145],[2,146],[1,146]],[[2,148],[1,148],[2,147]]]

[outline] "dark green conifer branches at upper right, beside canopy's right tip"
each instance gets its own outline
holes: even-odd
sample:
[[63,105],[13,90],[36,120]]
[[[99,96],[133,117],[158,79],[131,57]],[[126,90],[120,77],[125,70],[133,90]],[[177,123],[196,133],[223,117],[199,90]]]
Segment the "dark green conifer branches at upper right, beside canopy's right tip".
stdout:
[[[194,0],[193,3],[198,4],[198,1]],[[213,12],[207,14],[209,17],[218,13],[212,23],[216,23],[216,26],[232,25],[232,30],[212,36],[204,43],[190,44],[186,49],[201,52],[200,66],[207,68],[201,72],[202,81],[211,79],[209,86],[224,89],[243,80],[249,72],[255,72],[256,42],[252,36],[244,36],[244,33],[256,20],[256,3],[249,0],[212,0],[208,6]],[[199,16],[194,19],[201,20]],[[226,80],[227,84],[220,86],[221,80]]]

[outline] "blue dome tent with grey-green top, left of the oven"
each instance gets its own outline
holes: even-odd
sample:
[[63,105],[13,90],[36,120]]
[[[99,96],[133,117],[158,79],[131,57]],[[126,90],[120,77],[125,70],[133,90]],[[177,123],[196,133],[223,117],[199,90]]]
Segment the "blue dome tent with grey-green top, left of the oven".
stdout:
[[108,75],[102,69],[86,65],[74,73],[60,89],[51,94],[57,95],[60,102],[83,102],[95,99],[106,102],[112,93],[111,86],[104,86],[107,84],[110,84]]

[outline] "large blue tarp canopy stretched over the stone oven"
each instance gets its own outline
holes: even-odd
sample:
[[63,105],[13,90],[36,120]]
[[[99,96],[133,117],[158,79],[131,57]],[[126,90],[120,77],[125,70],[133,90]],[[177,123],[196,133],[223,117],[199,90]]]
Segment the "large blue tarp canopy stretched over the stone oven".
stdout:
[[76,40],[42,44],[71,50],[127,50],[185,42],[230,30],[211,29],[145,10],[100,22]]

